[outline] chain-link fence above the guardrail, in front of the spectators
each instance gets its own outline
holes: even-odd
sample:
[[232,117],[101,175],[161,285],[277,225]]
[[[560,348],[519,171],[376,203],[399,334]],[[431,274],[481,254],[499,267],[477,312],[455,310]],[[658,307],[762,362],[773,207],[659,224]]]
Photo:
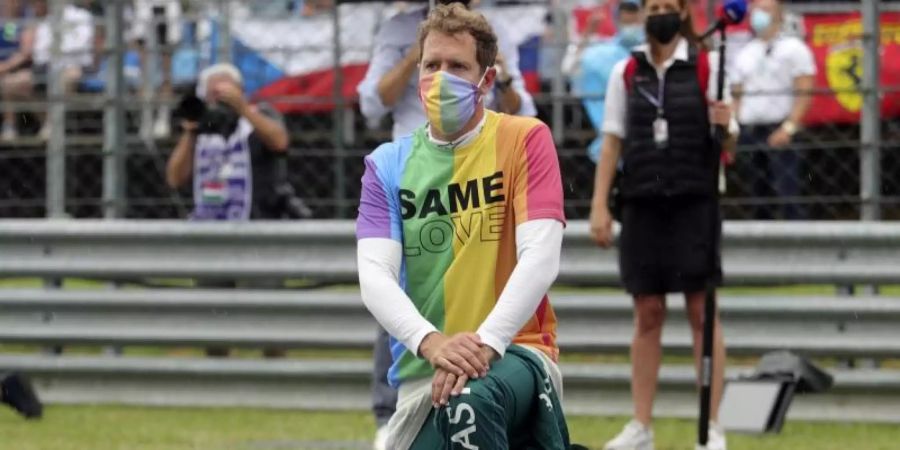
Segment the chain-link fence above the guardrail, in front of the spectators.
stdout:
[[[715,5],[689,3],[697,27],[704,26]],[[892,176],[900,169],[897,3],[872,2],[880,8],[878,57],[870,51],[875,22],[864,23],[868,13],[861,12],[870,2],[785,3],[783,33],[803,38],[815,57],[808,92],[813,108],[787,148],[738,147],[722,198],[726,217],[900,215],[900,181]],[[590,210],[595,170],[587,149],[597,132],[584,101],[603,95],[579,92],[564,59],[581,39],[589,47],[614,36],[617,4],[478,6],[518,49],[517,66],[537,115],[557,141],[573,219]],[[15,64],[0,62],[0,217],[64,212],[78,218],[188,216],[190,186],[173,190],[165,175],[180,135],[175,109],[193,92],[199,71],[221,61],[238,66],[249,98],[283,114],[291,137],[288,179],[314,216],[354,217],[362,157],[391,139],[390,118],[372,123],[361,114],[357,85],[385,21],[426,7],[362,2],[335,8],[328,0],[3,5],[0,52]],[[748,40],[746,28],[729,35],[730,61]],[[878,77],[867,78],[873,61],[881,65],[876,85],[870,82]],[[744,98],[765,95],[772,93],[748,90]],[[874,122],[861,127],[866,121]],[[868,155],[875,155],[874,163]],[[861,186],[877,191],[861,195]],[[864,204],[878,214],[871,208],[863,214]]]

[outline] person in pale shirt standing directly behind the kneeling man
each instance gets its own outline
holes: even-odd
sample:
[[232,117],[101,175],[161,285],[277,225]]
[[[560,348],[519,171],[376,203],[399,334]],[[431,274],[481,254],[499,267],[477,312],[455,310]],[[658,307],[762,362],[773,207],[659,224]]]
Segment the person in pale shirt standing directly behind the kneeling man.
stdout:
[[[452,3],[439,0],[439,4]],[[477,0],[460,1],[466,7],[477,5]],[[393,138],[412,133],[427,122],[418,91],[418,59],[420,49],[415,41],[416,29],[425,19],[426,7],[413,7],[401,11],[381,24],[375,36],[375,49],[366,76],[358,86],[360,109],[370,124],[380,122],[385,115],[394,121]],[[499,54],[496,60],[497,82],[487,94],[485,105],[489,109],[525,116],[537,115],[534,100],[525,90],[525,81],[519,71],[518,48],[510,42],[504,28],[495,28]],[[383,449],[387,435],[387,422],[397,404],[397,391],[387,383],[387,371],[391,365],[388,352],[388,335],[379,329],[374,349],[372,402],[375,422],[378,426],[376,449]]]

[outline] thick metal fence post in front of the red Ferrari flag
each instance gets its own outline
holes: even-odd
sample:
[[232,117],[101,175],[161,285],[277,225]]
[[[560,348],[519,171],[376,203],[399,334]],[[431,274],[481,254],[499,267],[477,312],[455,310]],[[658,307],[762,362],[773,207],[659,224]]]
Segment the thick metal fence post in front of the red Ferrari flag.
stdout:
[[860,117],[862,220],[881,219],[881,101],[878,98],[881,32],[878,0],[863,0],[863,108]]

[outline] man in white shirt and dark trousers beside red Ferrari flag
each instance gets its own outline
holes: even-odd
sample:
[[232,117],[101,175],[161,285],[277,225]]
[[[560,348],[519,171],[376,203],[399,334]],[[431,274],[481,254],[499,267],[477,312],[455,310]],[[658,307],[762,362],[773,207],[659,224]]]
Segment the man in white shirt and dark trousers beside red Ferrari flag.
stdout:
[[798,204],[802,159],[790,145],[809,109],[816,64],[805,42],[780,31],[783,17],[778,0],[757,0],[750,13],[755,38],[735,61],[732,89],[740,144],[752,150],[738,155],[739,170],[752,180],[755,197],[788,202],[782,208],[758,206],[756,219],[807,217]]

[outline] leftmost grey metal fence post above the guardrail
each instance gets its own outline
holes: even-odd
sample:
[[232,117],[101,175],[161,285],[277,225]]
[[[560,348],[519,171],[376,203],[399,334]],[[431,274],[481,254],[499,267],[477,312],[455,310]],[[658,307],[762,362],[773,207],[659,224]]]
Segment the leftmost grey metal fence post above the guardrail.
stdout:
[[63,86],[62,59],[63,11],[66,5],[62,1],[51,1],[50,24],[53,43],[50,46],[50,79],[47,82],[47,100],[49,101],[47,122],[50,124],[50,136],[47,140],[47,217],[62,218],[66,216],[66,105],[63,103],[65,87]]

